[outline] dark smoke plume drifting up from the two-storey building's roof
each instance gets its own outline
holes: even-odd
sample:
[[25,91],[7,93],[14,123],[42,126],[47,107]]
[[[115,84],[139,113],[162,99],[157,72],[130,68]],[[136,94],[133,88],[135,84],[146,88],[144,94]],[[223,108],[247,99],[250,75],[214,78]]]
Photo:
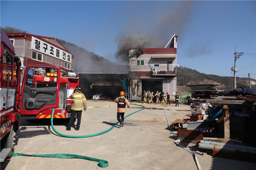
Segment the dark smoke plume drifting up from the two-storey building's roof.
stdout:
[[[123,62],[127,61],[129,49],[164,48],[172,38],[173,33],[182,37],[185,32],[188,31],[188,25],[194,18],[193,5],[195,4],[195,1],[171,1],[169,3],[175,5],[175,7],[170,9],[165,15],[159,17],[154,22],[154,26],[149,33],[144,35],[131,33],[128,36],[117,36],[117,50],[115,53],[117,60]],[[133,25],[133,23],[128,23],[128,25]]]

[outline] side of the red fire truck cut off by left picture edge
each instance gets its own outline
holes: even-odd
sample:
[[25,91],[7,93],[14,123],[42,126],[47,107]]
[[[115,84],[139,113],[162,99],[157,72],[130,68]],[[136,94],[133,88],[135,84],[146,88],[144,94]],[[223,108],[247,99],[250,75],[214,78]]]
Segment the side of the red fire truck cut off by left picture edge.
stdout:
[[5,33],[0,30],[0,161],[12,156],[14,137],[19,130],[20,66],[15,57],[14,46]]

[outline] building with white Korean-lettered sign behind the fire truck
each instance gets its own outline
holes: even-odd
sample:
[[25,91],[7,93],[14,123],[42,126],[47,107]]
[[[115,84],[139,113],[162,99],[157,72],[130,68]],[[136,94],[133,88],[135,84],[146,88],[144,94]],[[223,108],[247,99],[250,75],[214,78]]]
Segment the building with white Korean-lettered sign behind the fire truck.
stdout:
[[23,67],[31,64],[55,65],[66,72],[74,70],[74,55],[56,38],[27,33],[6,34],[14,44]]

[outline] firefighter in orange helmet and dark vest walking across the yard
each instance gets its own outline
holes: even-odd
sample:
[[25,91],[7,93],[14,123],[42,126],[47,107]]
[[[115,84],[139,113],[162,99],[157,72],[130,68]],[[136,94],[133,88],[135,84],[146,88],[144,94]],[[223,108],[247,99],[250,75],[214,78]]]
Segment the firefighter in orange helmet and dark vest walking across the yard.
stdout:
[[117,120],[120,122],[120,127],[123,127],[125,120],[124,116],[126,112],[126,105],[128,108],[130,107],[129,101],[127,100],[127,98],[125,98],[125,92],[121,91],[120,97],[116,98],[115,102],[117,103]]

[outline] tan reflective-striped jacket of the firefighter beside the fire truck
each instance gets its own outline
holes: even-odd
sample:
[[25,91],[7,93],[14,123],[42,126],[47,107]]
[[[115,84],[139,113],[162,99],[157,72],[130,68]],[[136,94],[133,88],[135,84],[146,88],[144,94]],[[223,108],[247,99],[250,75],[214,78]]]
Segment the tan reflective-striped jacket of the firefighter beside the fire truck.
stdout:
[[81,111],[87,108],[86,98],[84,94],[76,92],[70,95],[70,99],[73,99],[71,109],[74,111]]

